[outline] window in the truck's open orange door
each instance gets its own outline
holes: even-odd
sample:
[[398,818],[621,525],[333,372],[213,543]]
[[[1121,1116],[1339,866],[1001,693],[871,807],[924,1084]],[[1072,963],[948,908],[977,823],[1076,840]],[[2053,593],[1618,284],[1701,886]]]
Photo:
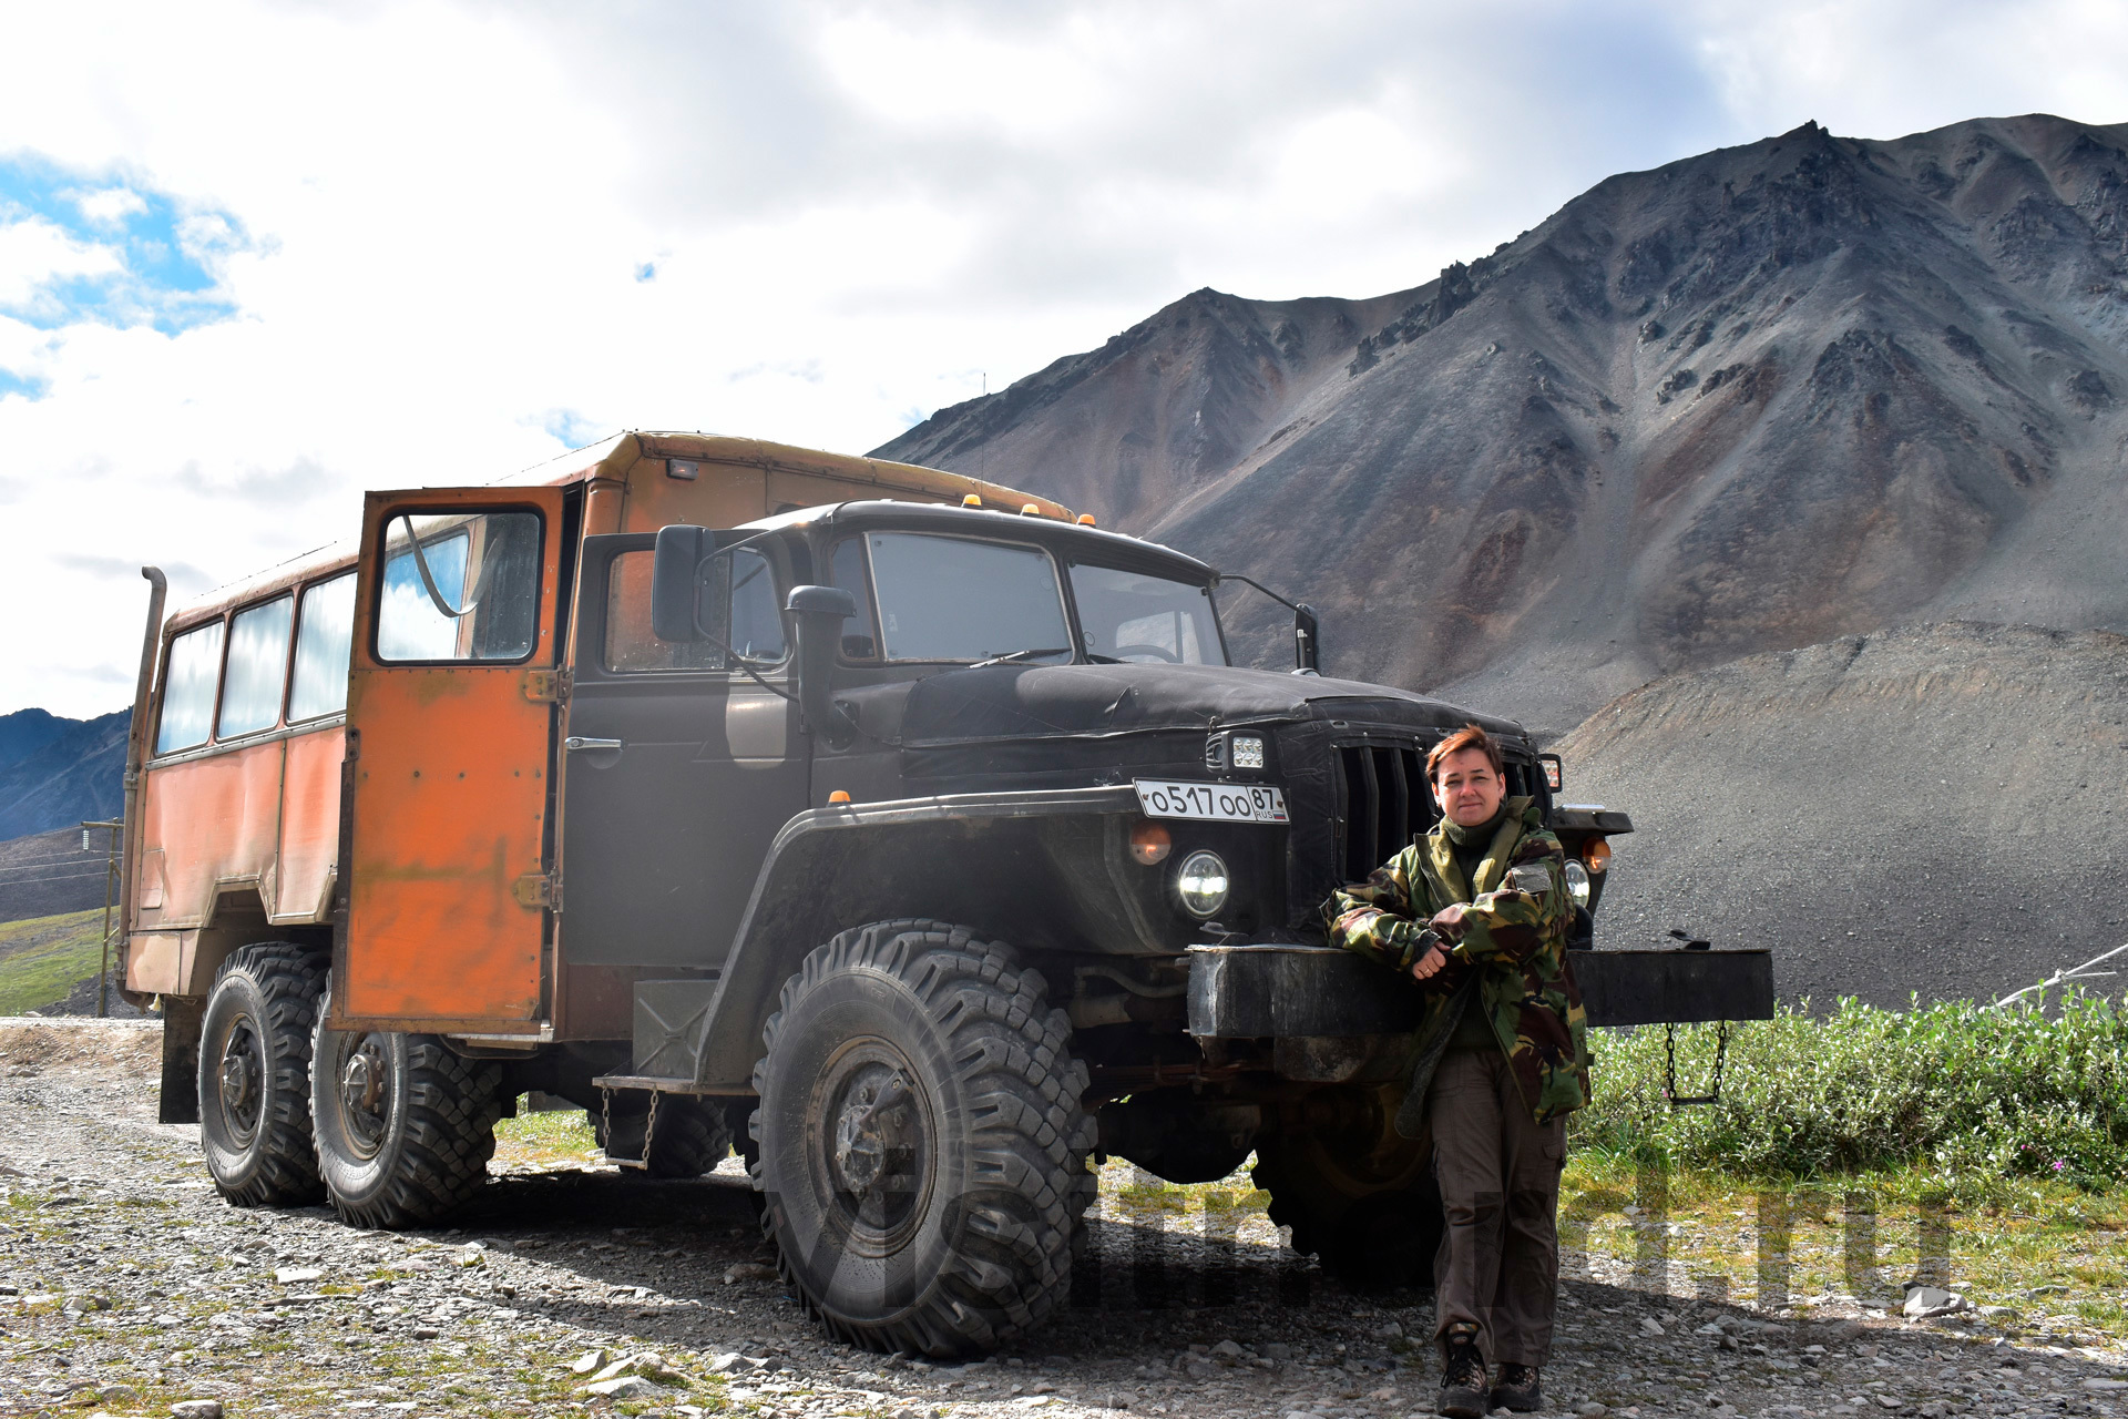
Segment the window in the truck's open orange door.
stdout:
[[538,513],[394,515],[377,660],[526,660],[538,638]]

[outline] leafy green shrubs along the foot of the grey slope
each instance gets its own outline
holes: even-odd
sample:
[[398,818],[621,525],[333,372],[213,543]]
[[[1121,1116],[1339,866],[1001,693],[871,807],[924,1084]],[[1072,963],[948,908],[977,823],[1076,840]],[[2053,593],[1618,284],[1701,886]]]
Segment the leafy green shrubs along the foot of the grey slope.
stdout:
[[[1730,1025],[1722,1100],[1673,1111],[1664,1030],[1596,1030],[1575,1140],[1760,1179],[1888,1168],[2109,1189],[2128,1166],[2128,1019],[2073,991],[2049,1015],[1971,1002]],[[1715,1025],[1677,1030],[1679,1094],[1705,1094]]]

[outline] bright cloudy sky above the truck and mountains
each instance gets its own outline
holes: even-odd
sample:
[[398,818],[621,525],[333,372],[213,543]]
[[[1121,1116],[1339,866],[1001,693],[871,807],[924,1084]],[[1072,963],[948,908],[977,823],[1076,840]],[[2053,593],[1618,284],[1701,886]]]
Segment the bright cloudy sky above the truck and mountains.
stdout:
[[1177,296],[1368,296],[1817,119],[2128,119],[2117,4],[0,2],[0,713],[621,428],[864,451]]

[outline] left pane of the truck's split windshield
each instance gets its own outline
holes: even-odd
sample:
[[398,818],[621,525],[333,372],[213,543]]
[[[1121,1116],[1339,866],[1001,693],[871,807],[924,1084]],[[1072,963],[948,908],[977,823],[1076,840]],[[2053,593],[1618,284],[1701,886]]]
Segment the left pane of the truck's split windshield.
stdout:
[[1038,547],[930,532],[870,532],[864,540],[887,660],[1073,657],[1064,591]]

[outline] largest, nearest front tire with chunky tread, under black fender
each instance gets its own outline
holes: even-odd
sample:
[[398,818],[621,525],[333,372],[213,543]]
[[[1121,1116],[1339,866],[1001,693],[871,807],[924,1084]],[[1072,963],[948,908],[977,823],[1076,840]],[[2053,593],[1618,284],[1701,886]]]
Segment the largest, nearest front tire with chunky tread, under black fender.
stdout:
[[843,932],[783,985],[753,1068],[753,1187],[783,1276],[836,1338],[981,1351],[1068,1296],[1094,1121],[1045,994],[943,921]]

